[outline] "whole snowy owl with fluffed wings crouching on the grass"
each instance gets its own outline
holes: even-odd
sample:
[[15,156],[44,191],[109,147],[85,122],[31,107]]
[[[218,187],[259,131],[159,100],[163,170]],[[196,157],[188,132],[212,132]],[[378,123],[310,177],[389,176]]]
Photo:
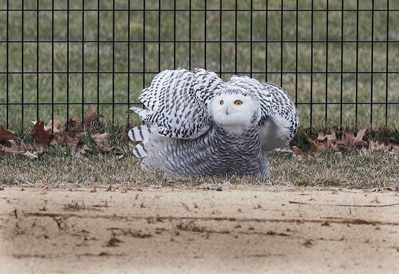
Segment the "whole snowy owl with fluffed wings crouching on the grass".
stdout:
[[204,69],[162,71],[139,100],[148,110],[128,110],[146,123],[129,131],[141,141],[133,154],[166,177],[265,180],[270,171],[263,150],[287,146],[299,125],[295,105],[276,85],[236,75],[225,83]]

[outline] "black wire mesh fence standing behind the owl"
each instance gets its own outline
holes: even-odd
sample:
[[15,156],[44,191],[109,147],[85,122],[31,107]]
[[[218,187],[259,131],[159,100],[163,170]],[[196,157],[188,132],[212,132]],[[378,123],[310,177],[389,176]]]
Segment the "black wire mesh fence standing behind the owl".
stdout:
[[399,112],[399,1],[0,0],[0,123],[120,117],[163,69],[288,91],[304,126]]

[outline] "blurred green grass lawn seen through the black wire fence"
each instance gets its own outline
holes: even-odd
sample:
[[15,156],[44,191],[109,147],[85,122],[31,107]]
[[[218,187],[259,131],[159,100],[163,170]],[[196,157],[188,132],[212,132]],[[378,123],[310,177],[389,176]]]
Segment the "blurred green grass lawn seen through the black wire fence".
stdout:
[[[40,8],[51,8],[50,0],[39,0]],[[112,8],[112,1],[102,0],[101,8]],[[238,24],[237,24],[237,71],[249,72],[251,70],[251,13],[249,11],[240,11],[240,9],[250,8],[249,0],[240,0],[238,11]],[[5,0],[0,0],[0,9],[5,8]],[[158,0],[146,0],[146,8],[158,8]],[[269,9],[280,8],[280,0],[268,0]],[[284,8],[295,8],[295,0],[284,0]],[[9,1],[10,9],[21,8],[21,1]],[[24,8],[36,8],[36,1],[24,1]],[[66,8],[66,0],[54,1],[55,8]],[[127,0],[116,0],[116,8],[127,8]],[[234,0],[222,0],[224,9],[234,9]],[[386,8],[387,1],[375,1],[375,8]],[[188,0],[177,0],[176,7],[186,9],[189,7]],[[208,9],[218,9],[220,2],[218,0],[208,0]],[[255,9],[266,8],[264,0],[254,0],[253,7]],[[300,9],[308,9],[311,7],[310,0],[299,1]],[[360,8],[371,8],[371,0],[360,1]],[[399,8],[396,1],[390,1],[391,8]],[[70,8],[82,8],[82,1],[70,0]],[[97,8],[97,0],[86,0],[85,8]],[[131,8],[142,8],[142,1],[131,1]],[[173,8],[173,0],[162,0],[161,8]],[[193,9],[204,8],[204,1],[192,0]],[[314,1],[315,9],[326,8],[325,0]],[[329,8],[341,8],[341,1],[329,1]],[[356,0],[345,0],[344,8],[356,8]],[[145,12],[145,39],[158,40],[158,34],[161,41],[176,40],[188,41],[189,40],[189,22],[188,11],[176,12],[176,33],[173,33],[173,11],[161,11],[161,27],[158,29],[158,11]],[[328,39],[329,40],[356,40],[356,11],[345,11],[344,15],[344,28],[343,35],[341,35],[341,11],[330,11],[328,14]],[[39,12],[39,35],[40,41],[51,40],[51,11]],[[66,11],[54,12],[54,40],[67,39],[67,13]],[[235,12],[223,11],[222,12],[222,37],[220,37],[220,12],[208,11],[206,16],[206,56],[203,41],[205,39],[205,20],[203,11],[191,12],[191,67],[189,65],[189,43],[177,42],[175,43],[176,51],[174,52],[174,44],[172,42],[161,42],[158,48],[158,42],[145,43],[145,71],[156,72],[158,70],[170,69],[174,67],[184,67],[187,69],[194,69],[195,67],[205,67],[204,59],[206,57],[206,68],[213,71],[219,71],[220,65],[222,71],[235,72],[235,43],[232,42],[218,42],[220,38],[222,41],[235,40]],[[314,25],[313,25],[313,39],[325,40],[326,39],[326,11],[314,11]],[[97,11],[85,11],[84,14],[84,39],[93,41],[97,39]],[[36,11],[24,11],[24,30],[23,37],[25,40],[36,40]],[[113,13],[112,11],[100,12],[100,39],[110,41],[113,38]],[[308,73],[311,70],[311,50],[312,46],[309,42],[298,43],[298,53],[295,51],[295,43],[284,42],[282,44],[282,69],[283,71],[295,71],[295,59],[298,56],[297,71],[302,72],[298,74],[297,83],[295,83],[295,74],[284,74],[280,79],[280,53],[281,44],[278,41],[280,37],[280,22],[281,12],[268,11],[267,17],[267,37],[266,37],[266,12],[254,11],[253,18],[253,35],[252,39],[252,70],[253,77],[260,81],[271,81],[276,84],[282,85],[286,89],[292,99],[298,103],[310,102],[310,87],[311,77]],[[115,12],[115,39],[127,40],[128,31],[130,31],[130,38],[132,41],[143,39],[143,12],[131,11],[130,30],[128,30],[128,12],[116,11]],[[374,12],[374,40],[386,40],[387,12],[375,11]],[[283,40],[295,40],[295,23],[296,12],[284,11],[283,13]],[[399,40],[399,31],[395,27],[399,24],[399,12],[391,11],[389,16],[389,39]],[[6,12],[0,11],[0,25],[6,25]],[[359,39],[371,40],[372,34],[372,12],[360,11],[359,12]],[[9,40],[21,39],[21,12],[9,12]],[[266,43],[260,42],[264,40],[267,43],[267,61],[266,61]],[[0,40],[6,39],[5,27],[0,28]],[[69,39],[81,40],[82,39],[82,11],[69,12]],[[299,11],[298,12],[298,39],[310,40],[311,39],[311,12]],[[36,72],[36,66],[39,68],[39,102],[51,103],[54,101],[57,104],[54,106],[54,115],[61,117],[62,120],[66,119],[66,103],[67,99],[67,75],[55,74],[54,76],[54,97],[51,96],[52,90],[52,77],[51,74],[42,72],[51,72],[51,43],[39,43],[39,62],[36,63],[36,43],[24,43],[23,46],[23,64],[21,56],[21,43],[9,43],[9,64],[8,70],[10,72],[21,71],[22,66],[24,72]],[[117,42],[115,43],[115,56],[113,56],[112,42],[101,42],[99,45],[100,52],[100,66],[97,68],[97,43],[86,42],[82,50],[81,42],[69,43],[69,71],[78,72],[82,70],[82,57],[84,59],[85,72],[96,72],[99,69],[102,72],[112,71],[113,60],[116,72],[126,72],[128,64],[130,64],[131,72],[140,72],[143,70],[143,43],[131,42],[130,43],[130,60],[128,60],[128,43]],[[222,48],[220,52],[220,46]],[[371,71],[371,43],[359,43],[359,62],[358,69],[360,72]],[[377,42],[374,44],[374,60],[373,69],[375,71],[384,72],[386,68],[386,50],[387,43]],[[343,71],[355,72],[356,71],[356,43],[345,42],[342,45]],[[176,58],[174,59],[173,56]],[[82,54],[84,54],[82,56]],[[160,54],[160,66],[158,67],[158,54]],[[339,103],[341,101],[341,43],[329,42],[328,43],[328,60],[326,60],[326,43],[315,42],[313,44],[313,71],[320,72],[313,75],[312,79],[312,100],[314,103]],[[219,63],[220,55],[222,63]],[[6,71],[6,44],[0,42],[0,71]],[[388,71],[399,71],[399,43],[391,42],[389,44],[389,67]],[[325,97],[326,91],[326,62],[328,63],[327,89],[328,96]],[[67,67],[67,45],[65,42],[54,43],[54,71],[65,72]],[[266,75],[265,71],[269,73]],[[228,80],[231,74],[222,74],[223,80]],[[248,75],[248,74],[247,74]],[[114,96],[115,102],[126,103],[128,100],[128,81],[130,81],[131,102],[137,102],[137,96],[144,86],[148,86],[154,74],[146,73],[145,79],[142,74],[131,74],[128,77],[127,73],[115,75]],[[23,102],[36,103],[36,73],[25,74],[23,76]],[[22,76],[20,74],[10,74],[8,78],[8,100],[11,103],[22,102]],[[95,103],[97,101],[97,74],[86,73],[82,79],[82,74],[69,74],[69,102],[78,104],[82,102],[82,84],[84,85],[84,102]],[[373,84],[373,98],[371,98],[371,86]],[[297,96],[295,97],[295,85],[297,85]],[[0,74],[0,103],[6,102],[6,76]],[[350,103],[344,104],[343,124],[354,125],[355,105],[353,104],[356,89],[356,75],[355,73],[345,73],[342,79],[342,102]],[[99,76],[99,95],[101,103],[112,102],[112,74],[102,73]],[[362,73],[358,76],[358,101],[359,102],[373,102],[385,103],[399,102],[399,80],[397,74],[389,74],[388,84],[388,98],[386,98],[386,74],[377,73],[373,76],[373,83],[371,83],[371,75]],[[90,109],[91,105],[86,105],[84,112]],[[385,105],[375,104],[373,106],[373,120],[379,125],[385,122]],[[125,117],[126,105],[115,106],[115,115],[117,117]],[[301,116],[302,125],[304,128],[309,124],[309,105],[298,105],[298,110]],[[358,106],[359,123],[369,123],[370,105],[360,104]],[[101,105],[100,112],[105,115],[110,115],[112,107],[110,105]],[[0,105],[0,123],[5,124],[5,105]],[[81,105],[71,105],[69,109],[70,115],[73,113],[81,116]],[[313,105],[313,122],[318,123],[324,120],[325,105]],[[339,124],[340,121],[340,105],[328,105],[327,115],[329,123]],[[399,115],[398,108],[395,105],[388,106],[388,120],[396,121]],[[48,121],[51,119],[51,106],[40,105],[39,117]],[[24,106],[24,123],[30,123],[29,120],[36,119],[36,106]],[[9,106],[9,125],[11,129],[17,129],[21,121],[21,106]]]

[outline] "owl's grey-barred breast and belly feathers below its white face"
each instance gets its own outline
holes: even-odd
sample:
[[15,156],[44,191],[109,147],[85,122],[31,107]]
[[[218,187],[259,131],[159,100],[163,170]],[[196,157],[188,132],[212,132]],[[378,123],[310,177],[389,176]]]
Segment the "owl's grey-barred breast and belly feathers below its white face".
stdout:
[[229,134],[212,126],[196,139],[175,139],[159,151],[168,176],[241,174],[266,179],[269,175],[259,133]]

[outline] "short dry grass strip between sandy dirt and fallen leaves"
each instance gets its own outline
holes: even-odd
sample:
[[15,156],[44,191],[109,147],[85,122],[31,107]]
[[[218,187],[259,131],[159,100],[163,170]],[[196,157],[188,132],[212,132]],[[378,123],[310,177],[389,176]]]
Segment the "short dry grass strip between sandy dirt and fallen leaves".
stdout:
[[[346,188],[398,187],[398,157],[383,152],[362,155],[356,151],[324,153],[324,161],[308,157],[269,153],[271,177],[268,185]],[[44,154],[37,161],[22,156],[0,157],[0,184],[21,186],[198,186],[202,183],[259,185],[254,178],[205,177],[166,180],[162,173],[141,170],[139,160],[91,155],[77,158],[67,151]]]

